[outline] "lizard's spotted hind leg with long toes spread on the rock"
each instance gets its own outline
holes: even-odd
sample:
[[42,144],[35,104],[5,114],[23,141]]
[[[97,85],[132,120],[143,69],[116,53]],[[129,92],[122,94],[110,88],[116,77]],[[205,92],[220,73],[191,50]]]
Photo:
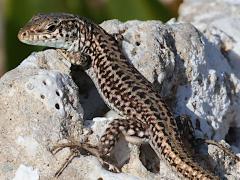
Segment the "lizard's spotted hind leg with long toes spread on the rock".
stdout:
[[120,172],[120,169],[114,165],[110,158],[110,152],[121,135],[124,135],[125,139],[133,144],[141,144],[148,139],[145,124],[141,121],[115,119],[108,125],[108,128],[97,146],[91,145],[88,142],[80,143],[71,140],[67,143],[56,144],[50,149],[52,154],[56,154],[66,147],[70,148],[71,153],[61,165],[60,169],[55,173],[55,177],[60,176],[68,164],[71,163],[75,157],[82,154],[82,151],[86,151],[89,154],[96,156],[102,166],[111,172]]

